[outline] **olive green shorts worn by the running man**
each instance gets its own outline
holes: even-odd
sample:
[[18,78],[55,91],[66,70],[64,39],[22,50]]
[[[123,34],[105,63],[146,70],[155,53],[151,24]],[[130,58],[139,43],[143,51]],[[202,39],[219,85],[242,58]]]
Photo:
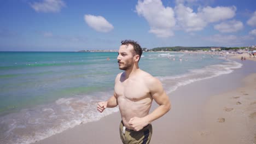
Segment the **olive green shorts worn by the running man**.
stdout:
[[148,124],[146,127],[139,131],[125,129],[123,132],[123,121],[120,123],[119,133],[123,143],[140,143],[140,144],[148,144],[150,142],[153,130],[152,124]]

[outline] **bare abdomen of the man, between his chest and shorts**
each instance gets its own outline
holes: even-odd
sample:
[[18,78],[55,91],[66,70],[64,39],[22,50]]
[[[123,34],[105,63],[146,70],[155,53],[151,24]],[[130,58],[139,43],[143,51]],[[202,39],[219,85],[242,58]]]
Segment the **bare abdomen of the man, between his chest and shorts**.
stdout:
[[129,125],[130,119],[133,117],[142,118],[147,116],[152,105],[152,98],[147,97],[138,101],[132,101],[124,96],[120,96],[118,97],[118,104],[125,127],[132,129]]

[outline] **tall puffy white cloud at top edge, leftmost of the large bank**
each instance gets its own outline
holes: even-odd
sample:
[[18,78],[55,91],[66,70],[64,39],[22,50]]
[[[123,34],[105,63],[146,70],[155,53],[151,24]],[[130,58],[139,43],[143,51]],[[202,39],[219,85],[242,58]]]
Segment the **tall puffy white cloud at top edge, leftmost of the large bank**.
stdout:
[[174,11],[170,7],[164,7],[160,0],[138,1],[136,12],[148,21],[150,33],[163,38],[174,35],[173,27],[176,22]]

